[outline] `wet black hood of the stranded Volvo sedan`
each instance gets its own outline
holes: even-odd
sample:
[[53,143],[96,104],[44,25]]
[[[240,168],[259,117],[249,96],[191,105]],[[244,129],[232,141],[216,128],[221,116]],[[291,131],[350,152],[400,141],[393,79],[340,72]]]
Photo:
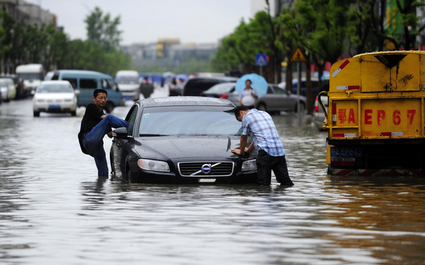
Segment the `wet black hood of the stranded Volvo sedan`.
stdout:
[[154,136],[136,139],[135,151],[142,158],[237,158],[240,136]]

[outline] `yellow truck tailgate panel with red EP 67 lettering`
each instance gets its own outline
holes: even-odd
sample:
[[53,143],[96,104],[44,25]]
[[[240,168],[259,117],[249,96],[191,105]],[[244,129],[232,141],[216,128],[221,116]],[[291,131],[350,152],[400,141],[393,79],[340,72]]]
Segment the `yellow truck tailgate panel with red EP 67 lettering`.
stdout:
[[421,136],[421,98],[361,101],[361,137]]

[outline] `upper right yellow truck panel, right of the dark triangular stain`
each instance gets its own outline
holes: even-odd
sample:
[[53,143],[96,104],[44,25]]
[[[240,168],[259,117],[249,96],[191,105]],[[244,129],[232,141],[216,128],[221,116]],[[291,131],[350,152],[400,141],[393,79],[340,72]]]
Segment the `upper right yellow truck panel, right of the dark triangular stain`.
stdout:
[[419,72],[419,54],[407,54],[391,69],[392,90],[419,90]]

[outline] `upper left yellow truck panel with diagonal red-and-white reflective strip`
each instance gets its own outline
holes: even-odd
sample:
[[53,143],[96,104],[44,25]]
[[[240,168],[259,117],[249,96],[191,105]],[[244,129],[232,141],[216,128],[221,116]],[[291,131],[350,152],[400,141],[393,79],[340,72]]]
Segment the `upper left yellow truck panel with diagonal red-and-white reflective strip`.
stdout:
[[[345,63],[348,61],[348,64]],[[343,69],[339,70],[339,67],[346,64]],[[333,76],[334,75],[334,76]],[[360,86],[360,58],[350,58],[337,61],[332,64],[329,76],[329,91],[330,92],[341,92],[344,90],[336,90],[337,86]]]

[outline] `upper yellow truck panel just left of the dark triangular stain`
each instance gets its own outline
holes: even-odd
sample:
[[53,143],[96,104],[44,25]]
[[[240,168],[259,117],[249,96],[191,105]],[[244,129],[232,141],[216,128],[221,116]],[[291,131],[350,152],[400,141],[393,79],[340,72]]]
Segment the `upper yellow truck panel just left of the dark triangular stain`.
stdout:
[[390,68],[375,58],[374,54],[361,57],[361,92],[387,90],[390,83]]

